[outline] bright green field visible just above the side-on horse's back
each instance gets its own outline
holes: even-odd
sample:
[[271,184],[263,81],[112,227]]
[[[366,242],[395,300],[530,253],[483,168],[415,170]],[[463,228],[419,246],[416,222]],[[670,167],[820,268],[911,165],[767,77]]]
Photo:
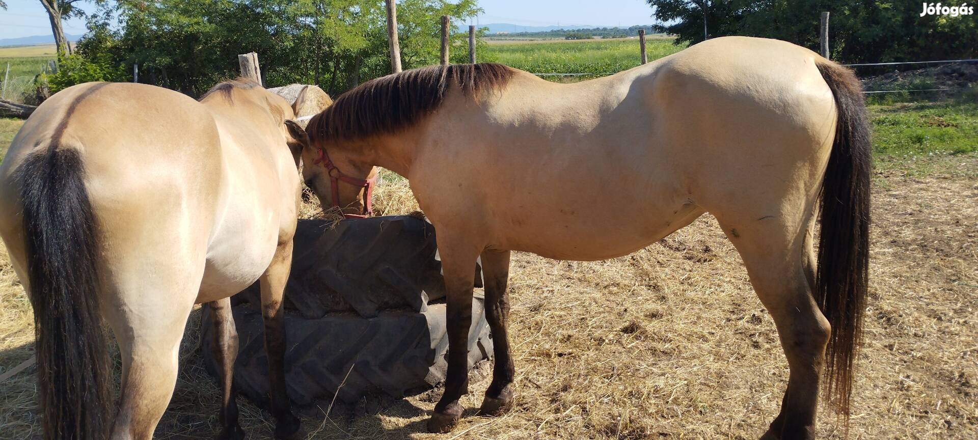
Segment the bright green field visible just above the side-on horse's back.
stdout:
[[[683,50],[671,40],[646,41],[648,60],[657,60]],[[551,81],[568,81],[603,76],[642,64],[638,39],[535,41],[493,43],[481,61],[492,61],[533,73],[590,73],[584,77],[543,76]]]

